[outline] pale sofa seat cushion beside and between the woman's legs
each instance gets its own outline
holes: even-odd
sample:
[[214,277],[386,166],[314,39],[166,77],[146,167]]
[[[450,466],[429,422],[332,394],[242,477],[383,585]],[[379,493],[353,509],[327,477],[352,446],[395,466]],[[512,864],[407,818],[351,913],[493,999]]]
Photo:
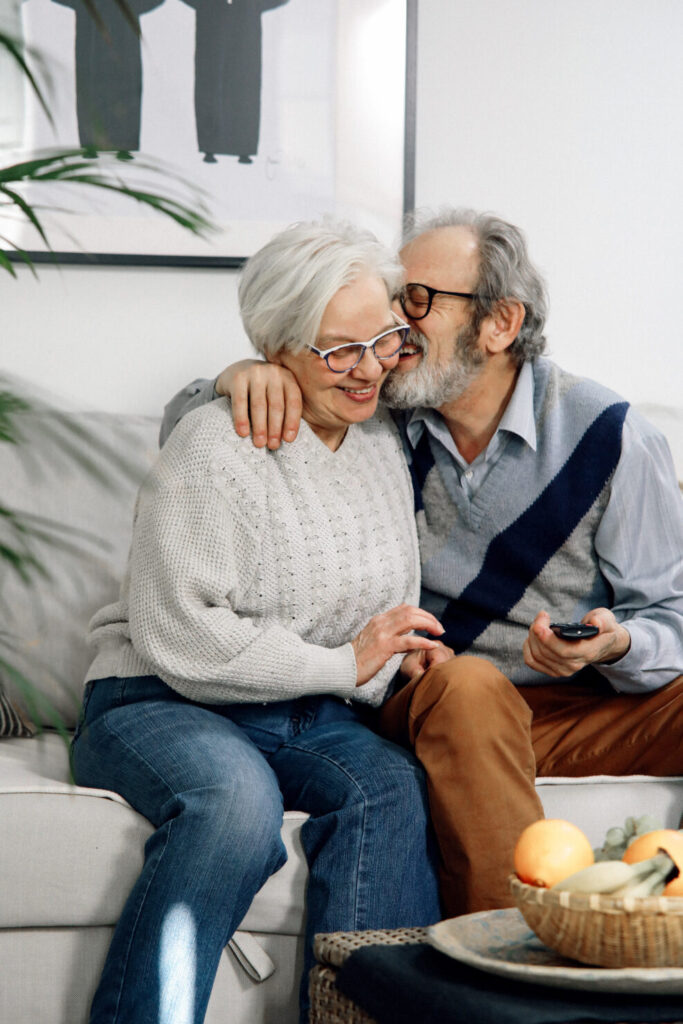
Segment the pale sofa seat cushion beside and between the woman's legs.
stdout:
[[[0,743],[0,929],[114,925],[142,868],[150,822],[117,794],[69,779],[57,734]],[[307,871],[299,831],[306,817],[285,814],[288,860],[241,929],[302,931]]]

